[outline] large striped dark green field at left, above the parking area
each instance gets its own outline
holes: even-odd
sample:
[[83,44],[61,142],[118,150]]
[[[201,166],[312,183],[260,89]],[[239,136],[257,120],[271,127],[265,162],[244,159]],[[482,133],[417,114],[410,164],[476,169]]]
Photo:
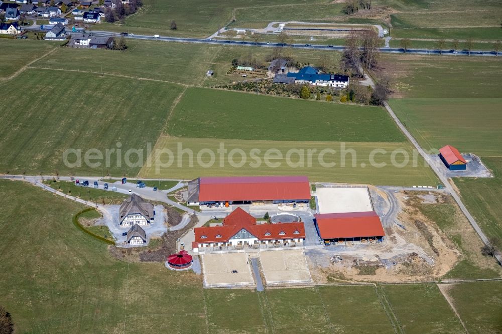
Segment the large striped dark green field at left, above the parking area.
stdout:
[[[27,175],[136,175],[139,168],[127,166],[125,154],[118,159],[121,166],[111,154],[109,168],[104,158],[99,168],[91,168],[84,152],[96,148],[105,157],[104,150],[116,149],[117,142],[124,153],[130,148],[146,150],[148,142],[156,142],[181,92],[181,87],[167,83],[35,69],[0,88],[19,93],[0,100],[0,171]],[[69,148],[82,149],[80,168],[63,163]],[[131,162],[136,156],[130,156]],[[74,162],[71,157],[68,160]]]

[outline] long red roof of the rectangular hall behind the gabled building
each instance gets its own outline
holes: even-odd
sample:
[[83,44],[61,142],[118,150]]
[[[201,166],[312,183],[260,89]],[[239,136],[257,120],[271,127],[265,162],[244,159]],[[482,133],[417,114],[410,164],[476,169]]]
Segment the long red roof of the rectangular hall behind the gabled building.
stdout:
[[305,176],[200,178],[199,202],[309,200]]

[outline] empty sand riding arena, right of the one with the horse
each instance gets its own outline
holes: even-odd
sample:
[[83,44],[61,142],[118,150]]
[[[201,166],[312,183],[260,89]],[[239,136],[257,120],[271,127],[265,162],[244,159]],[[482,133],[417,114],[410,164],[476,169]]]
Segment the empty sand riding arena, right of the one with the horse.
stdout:
[[259,256],[267,284],[312,283],[303,249],[261,251]]

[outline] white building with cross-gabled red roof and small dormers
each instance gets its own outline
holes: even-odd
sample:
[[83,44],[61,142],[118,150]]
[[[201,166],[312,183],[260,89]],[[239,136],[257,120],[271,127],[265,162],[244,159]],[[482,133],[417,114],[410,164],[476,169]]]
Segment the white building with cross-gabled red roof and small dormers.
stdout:
[[221,226],[196,227],[194,252],[205,247],[249,247],[252,245],[302,243],[305,227],[302,222],[257,224],[257,220],[241,208],[223,219]]

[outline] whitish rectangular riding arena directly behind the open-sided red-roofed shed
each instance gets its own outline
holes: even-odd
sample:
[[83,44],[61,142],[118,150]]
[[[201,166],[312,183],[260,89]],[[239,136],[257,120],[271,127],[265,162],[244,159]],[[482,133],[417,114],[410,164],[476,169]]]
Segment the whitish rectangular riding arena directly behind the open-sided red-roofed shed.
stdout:
[[321,214],[373,211],[368,187],[317,186],[316,193]]

